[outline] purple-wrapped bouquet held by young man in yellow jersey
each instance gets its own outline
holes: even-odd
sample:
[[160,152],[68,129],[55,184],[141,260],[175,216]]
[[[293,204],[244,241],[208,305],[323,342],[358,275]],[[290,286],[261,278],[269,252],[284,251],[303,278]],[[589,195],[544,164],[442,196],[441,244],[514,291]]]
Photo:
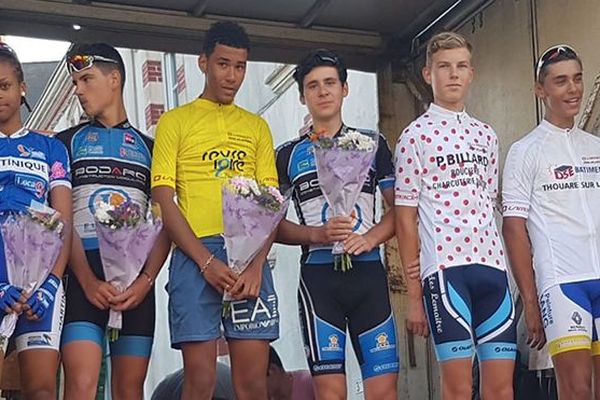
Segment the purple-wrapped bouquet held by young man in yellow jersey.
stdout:
[[[236,176],[223,185],[223,226],[229,268],[241,274],[287,212],[289,196]],[[224,301],[231,296],[225,294]]]

